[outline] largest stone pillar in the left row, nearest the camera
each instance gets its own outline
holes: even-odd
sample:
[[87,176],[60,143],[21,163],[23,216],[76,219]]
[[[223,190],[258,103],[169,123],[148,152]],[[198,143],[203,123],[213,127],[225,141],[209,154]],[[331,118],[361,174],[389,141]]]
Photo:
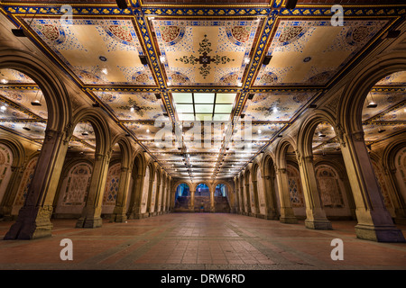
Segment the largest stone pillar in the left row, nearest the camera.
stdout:
[[68,150],[64,132],[46,130],[40,157],[27,198],[5,239],[32,239],[51,236],[52,203]]

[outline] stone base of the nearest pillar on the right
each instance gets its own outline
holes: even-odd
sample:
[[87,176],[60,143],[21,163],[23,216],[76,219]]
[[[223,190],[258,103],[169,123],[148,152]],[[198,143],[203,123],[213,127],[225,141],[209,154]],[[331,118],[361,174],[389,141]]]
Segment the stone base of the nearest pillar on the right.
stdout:
[[357,224],[355,234],[357,238],[376,242],[406,242],[401,229],[397,229],[395,226]]

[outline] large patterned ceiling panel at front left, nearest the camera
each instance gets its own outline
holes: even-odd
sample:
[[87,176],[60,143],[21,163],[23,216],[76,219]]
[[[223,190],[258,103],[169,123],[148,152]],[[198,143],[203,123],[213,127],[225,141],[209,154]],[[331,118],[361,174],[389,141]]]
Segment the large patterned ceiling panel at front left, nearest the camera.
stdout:
[[154,85],[130,20],[34,19],[31,28],[85,85]]

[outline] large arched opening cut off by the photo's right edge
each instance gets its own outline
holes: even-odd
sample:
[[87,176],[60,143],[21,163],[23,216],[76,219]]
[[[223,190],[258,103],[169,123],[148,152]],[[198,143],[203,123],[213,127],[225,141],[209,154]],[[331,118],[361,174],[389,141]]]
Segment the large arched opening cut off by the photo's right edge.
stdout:
[[[371,159],[383,205],[395,222],[406,222],[406,198],[404,189],[400,189],[404,182],[397,184],[397,179],[401,178],[401,158],[395,153],[386,153],[385,148],[392,147],[392,143],[396,143],[396,149],[406,145],[405,97],[403,89],[399,89],[405,82],[406,71],[395,72],[379,80],[365,96],[360,120],[364,144]],[[391,172],[396,170],[392,165],[396,160],[400,167],[397,177],[392,176]]]

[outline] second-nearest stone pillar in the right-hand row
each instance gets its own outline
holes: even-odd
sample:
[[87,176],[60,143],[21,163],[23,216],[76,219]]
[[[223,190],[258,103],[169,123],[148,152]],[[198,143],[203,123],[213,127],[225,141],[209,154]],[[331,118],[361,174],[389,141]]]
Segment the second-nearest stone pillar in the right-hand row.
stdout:
[[[297,152],[298,155],[298,152]],[[313,156],[298,157],[300,179],[306,202],[305,226],[309,229],[333,229],[321,206],[318,184],[314,172]]]

